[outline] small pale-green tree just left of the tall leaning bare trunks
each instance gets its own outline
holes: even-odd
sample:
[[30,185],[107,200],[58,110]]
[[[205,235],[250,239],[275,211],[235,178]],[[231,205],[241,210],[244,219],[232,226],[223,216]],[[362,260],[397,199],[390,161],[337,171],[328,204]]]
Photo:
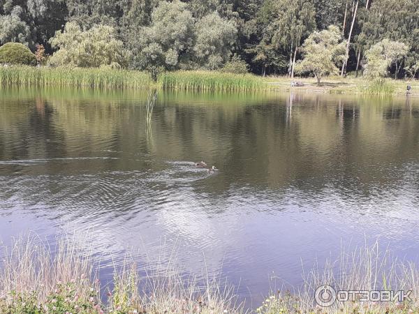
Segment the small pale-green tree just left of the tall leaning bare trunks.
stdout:
[[297,63],[299,73],[312,73],[320,84],[325,75],[338,74],[344,59],[345,43],[337,27],[325,31],[315,31],[302,45],[304,59]]

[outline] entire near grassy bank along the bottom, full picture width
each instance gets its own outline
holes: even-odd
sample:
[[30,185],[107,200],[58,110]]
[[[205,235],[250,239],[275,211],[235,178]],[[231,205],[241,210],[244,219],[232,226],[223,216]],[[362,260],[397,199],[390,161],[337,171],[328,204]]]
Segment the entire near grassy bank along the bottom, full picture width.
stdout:
[[[139,278],[138,268],[128,259],[115,271],[113,288],[95,279],[94,262],[86,243],[61,239],[57,251],[36,244],[34,238],[16,241],[8,248],[0,271],[0,313],[109,313],[109,314],[239,314],[253,313],[238,306],[231,289],[218,281],[198,285],[185,280],[175,268],[157,267],[154,274]],[[335,262],[303,273],[304,284],[293,292],[277,291],[254,312],[278,313],[419,313],[419,272],[413,264],[392,258],[378,246],[341,253]],[[314,291],[321,285],[336,290],[412,290],[413,301],[337,302],[316,306]],[[358,297],[359,298],[359,297]],[[104,301],[105,299],[105,301]]]

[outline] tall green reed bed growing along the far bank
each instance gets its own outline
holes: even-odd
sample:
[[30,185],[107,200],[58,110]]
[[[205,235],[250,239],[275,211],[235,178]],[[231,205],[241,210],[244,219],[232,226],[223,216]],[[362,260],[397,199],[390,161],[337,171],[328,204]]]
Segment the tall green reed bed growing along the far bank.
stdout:
[[184,91],[260,91],[267,89],[262,77],[215,71],[164,72],[154,82],[137,70],[108,68],[0,67],[1,86],[80,87],[93,89],[178,89]]

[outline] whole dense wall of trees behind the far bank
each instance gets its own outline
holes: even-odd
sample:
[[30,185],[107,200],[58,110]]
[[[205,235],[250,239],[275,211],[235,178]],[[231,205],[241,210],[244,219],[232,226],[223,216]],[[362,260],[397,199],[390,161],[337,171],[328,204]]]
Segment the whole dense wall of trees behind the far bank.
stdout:
[[0,0],[0,44],[8,42],[45,47],[52,66],[415,77],[419,3]]

